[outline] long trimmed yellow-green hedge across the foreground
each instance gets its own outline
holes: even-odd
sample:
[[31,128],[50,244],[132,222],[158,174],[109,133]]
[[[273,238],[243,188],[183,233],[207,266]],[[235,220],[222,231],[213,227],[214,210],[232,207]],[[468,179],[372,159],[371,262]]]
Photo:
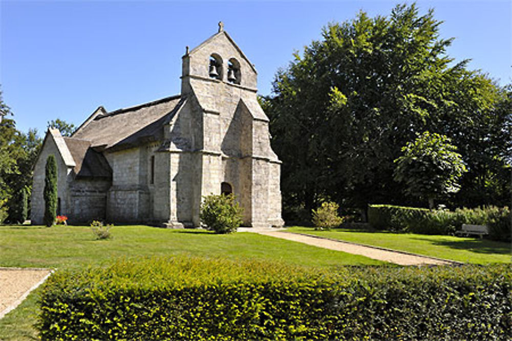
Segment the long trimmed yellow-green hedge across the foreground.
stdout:
[[512,270],[155,258],[58,271],[38,329],[54,339],[512,337]]

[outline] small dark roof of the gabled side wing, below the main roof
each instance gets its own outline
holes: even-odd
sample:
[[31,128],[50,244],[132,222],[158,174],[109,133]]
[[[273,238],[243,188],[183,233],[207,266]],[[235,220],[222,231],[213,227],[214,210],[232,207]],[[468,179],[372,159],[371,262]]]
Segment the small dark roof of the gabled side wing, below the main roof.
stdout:
[[76,138],[64,138],[73,156],[77,177],[112,177],[112,168],[102,153],[91,148],[91,142]]

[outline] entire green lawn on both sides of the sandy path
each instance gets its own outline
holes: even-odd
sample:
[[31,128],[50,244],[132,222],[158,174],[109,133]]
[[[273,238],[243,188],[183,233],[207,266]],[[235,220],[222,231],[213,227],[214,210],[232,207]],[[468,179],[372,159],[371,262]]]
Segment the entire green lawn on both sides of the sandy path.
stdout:
[[[308,233],[361,244],[387,247],[460,262],[510,262],[507,243],[458,238],[355,230]],[[0,226],[0,266],[58,269],[104,265],[119,257],[141,258],[189,254],[210,258],[255,258],[292,265],[336,267],[385,264],[366,257],[321,249],[253,233],[215,235],[203,230],[167,230],[148,226],[115,226],[111,240],[95,240],[89,227]],[[0,320],[0,339],[37,339],[33,324],[38,313],[39,289]]]

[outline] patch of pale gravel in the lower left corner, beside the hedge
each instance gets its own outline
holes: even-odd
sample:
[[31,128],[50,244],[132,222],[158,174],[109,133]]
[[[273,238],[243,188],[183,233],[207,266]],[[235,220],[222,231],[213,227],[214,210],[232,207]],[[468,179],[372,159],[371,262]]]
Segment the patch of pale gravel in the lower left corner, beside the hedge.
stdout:
[[50,276],[49,269],[0,267],[0,319]]

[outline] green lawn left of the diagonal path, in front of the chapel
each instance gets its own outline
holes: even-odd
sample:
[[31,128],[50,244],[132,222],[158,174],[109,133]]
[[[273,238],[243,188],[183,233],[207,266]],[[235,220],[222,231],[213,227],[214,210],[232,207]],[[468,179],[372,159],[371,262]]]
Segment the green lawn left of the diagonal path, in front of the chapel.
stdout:
[[[321,249],[254,233],[215,235],[203,230],[115,226],[110,240],[95,240],[89,227],[0,226],[0,266],[58,269],[103,265],[119,257],[190,254],[255,258],[294,265],[336,267],[384,264],[366,257]],[[36,339],[39,291],[0,320],[0,339]]]

